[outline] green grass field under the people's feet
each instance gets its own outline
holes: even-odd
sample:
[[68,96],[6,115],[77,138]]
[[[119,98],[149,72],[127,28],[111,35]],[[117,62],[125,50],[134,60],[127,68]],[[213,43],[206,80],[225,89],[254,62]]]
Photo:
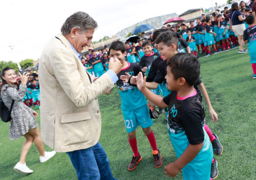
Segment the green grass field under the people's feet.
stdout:
[[[255,95],[256,79],[252,79],[249,54],[238,54],[237,49],[200,59],[202,62],[201,79],[205,85],[219,121],[210,120],[206,104],[206,124],[220,138],[223,154],[214,156],[218,161],[218,179],[256,179],[256,142],[255,142]],[[163,114],[154,119],[151,126],[156,137],[163,166],[155,168],[151,146],[141,128],[137,128],[138,149],[142,161],[133,171],[127,170],[132,159],[132,150],[127,140],[121,99],[117,87],[109,96],[99,97],[102,117],[100,143],[108,154],[111,170],[118,179],[171,179],[164,174],[164,167],[175,161],[166,129]],[[39,113],[39,111],[37,110]],[[37,118],[40,125],[40,119]],[[28,156],[27,166],[33,174],[20,175],[13,170],[19,161],[22,137],[10,141],[9,123],[0,122],[0,179],[77,179],[76,172],[66,153],[57,153],[44,163],[39,162],[39,153],[33,144]],[[51,149],[45,146],[46,151]],[[182,179],[179,173],[175,179]],[[199,179],[200,180],[200,179]]]

